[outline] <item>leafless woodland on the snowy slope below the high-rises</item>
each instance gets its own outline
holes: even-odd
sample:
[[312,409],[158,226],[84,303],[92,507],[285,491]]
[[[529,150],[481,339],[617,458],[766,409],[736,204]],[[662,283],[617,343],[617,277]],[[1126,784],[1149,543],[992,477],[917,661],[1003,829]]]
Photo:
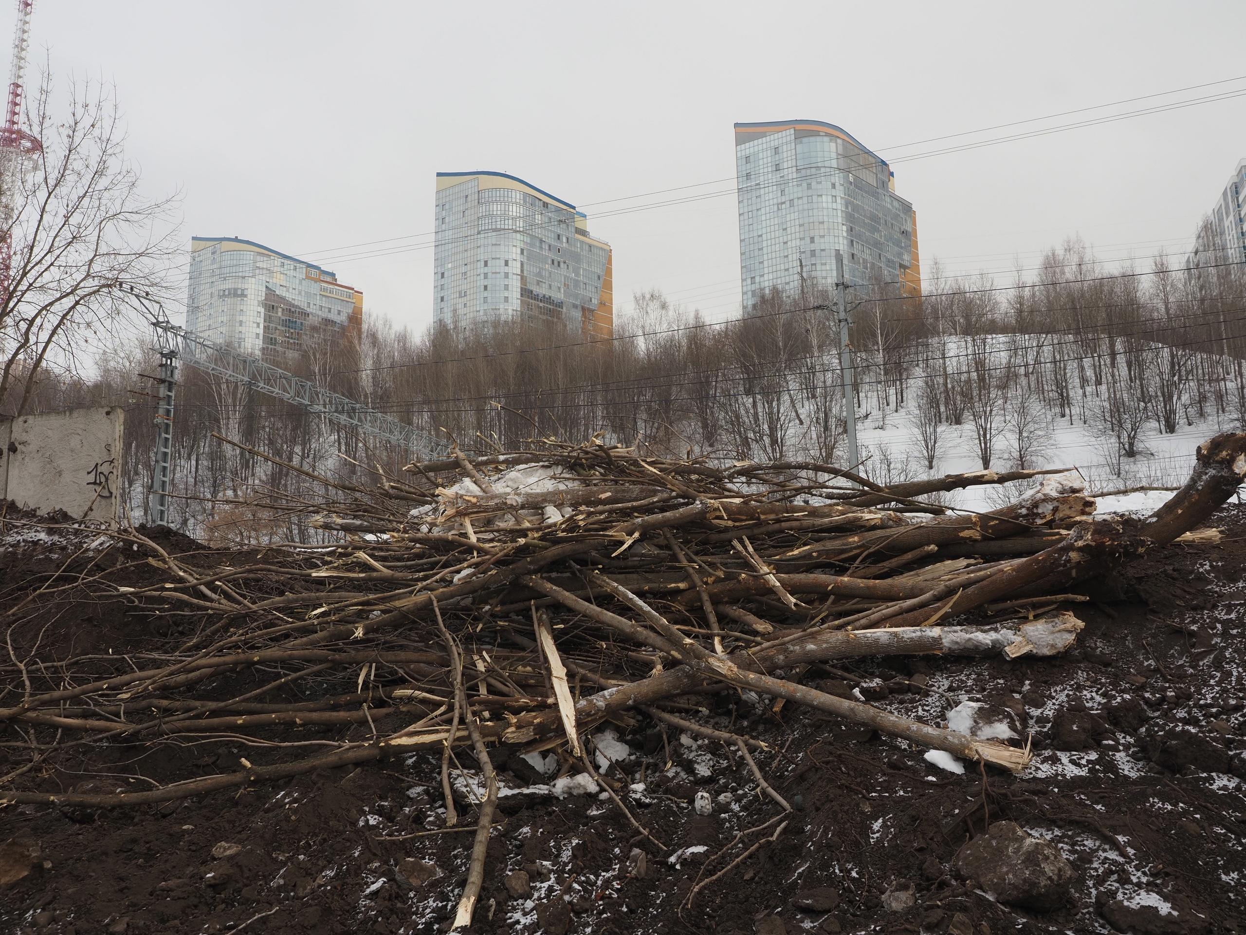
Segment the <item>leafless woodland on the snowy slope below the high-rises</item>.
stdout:
[[[558,323],[456,335],[373,317],[356,340],[309,339],[284,364],[468,451],[602,434],[655,455],[847,466],[831,299],[811,283],[710,323],[648,292],[613,340],[592,344]],[[858,418],[905,418],[912,431],[910,450],[868,451],[860,470],[880,482],[937,471],[948,426],[964,426],[983,467],[1028,469],[1043,466],[1053,423],[1083,424],[1116,474],[1148,453],[1148,439],[1195,420],[1244,426],[1244,299],[1241,264],[1161,257],[1109,272],[1082,243],[1007,282],[934,268],[922,298],[851,289]],[[0,411],[125,405],[123,491],[138,522],[155,438],[155,400],[141,395],[151,383],[140,374],[155,368],[151,349],[127,342],[92,376],[44,373]],[[303,490],[310,501],[318,484],[295,467],[373,482],[404,476],[412,460],[192,368],[181,380],[174,516],[208,539],[314,540],[300,514],[270,510],[265,491]]]

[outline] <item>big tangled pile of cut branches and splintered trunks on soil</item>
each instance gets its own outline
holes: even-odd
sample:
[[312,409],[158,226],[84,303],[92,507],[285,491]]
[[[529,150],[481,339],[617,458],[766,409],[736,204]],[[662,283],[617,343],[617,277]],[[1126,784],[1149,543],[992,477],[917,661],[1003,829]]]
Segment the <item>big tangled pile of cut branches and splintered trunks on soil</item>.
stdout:
[[[473,459],[455,450],[409,465],[405,479],[335,485],[334,502],[288,504],[340,535],[323,547],[178,556],[137,531],[117,534],[145,550],[157,583],[126,587],[106,572],[52,580],[10,606],[5,627],[41,595],[74,587],[174,621],[181,636],[159,652],[69,659],[22,654],[10,641],[0,721],[6,739],[30,749],[0,778],[0,800],[161,803],[425,750],[442,758],[455,820],[452,765],[470,758],[482,802],[462,923],[480,891],[497,744],[554,749],[562,772],[612,792],[586,749],[594,726],[652,718],[748,757],[764,744],[698,724],[672,702],[735,691],[1023,769],[1027,748],[802,677],[846,657],[1063,652],[1082,623],[1060,605],[1085,600],[1070,588],[1194,530],[1246,476],[1246,434],[1217,435],[1153,516],[1095,520],[1075,475],[1057,471],[883,489],[811,463],[663,460],[597,440],[538,448]],[[1030,492],[991,512],[926,499],[1030,479]],[[243,738],[257,752],[237,772],[151,789],[47,789],[69,746],[187,737]],[[321,749],[307,757],[307,744]]]

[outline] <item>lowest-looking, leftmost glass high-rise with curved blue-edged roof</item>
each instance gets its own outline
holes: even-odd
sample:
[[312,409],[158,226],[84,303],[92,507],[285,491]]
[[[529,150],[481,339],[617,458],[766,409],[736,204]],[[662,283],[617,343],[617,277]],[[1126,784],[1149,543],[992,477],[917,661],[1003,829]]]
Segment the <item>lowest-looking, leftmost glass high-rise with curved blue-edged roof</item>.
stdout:
[[186,329],[279,359],[316,332],[363,329],[364,293],[336,274],[237,237],[192,237]]

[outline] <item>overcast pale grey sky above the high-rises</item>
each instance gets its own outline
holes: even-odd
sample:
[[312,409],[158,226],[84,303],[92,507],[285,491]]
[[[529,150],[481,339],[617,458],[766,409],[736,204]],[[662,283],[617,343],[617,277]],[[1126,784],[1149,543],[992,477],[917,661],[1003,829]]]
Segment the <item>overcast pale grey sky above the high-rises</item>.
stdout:
[[[1246,156],[1246,97],[912,161],[1014,131],[905,145],[1246,75],[1241,36],[1241,0],[37,0],[31,57],[115,82],[146,186],[183,192],[187,243],[320,262],[422,328],[437,171],[510,172],[579,206],[614,248],[623,310],[655,287],[735,312],[735,121],[830,121],[893,160],[923,268],[1006,279],[1075,234],[1104,257],[1184,251]],[[1246,80],[1053,122],[1232,89]],[[371,241],[389,242],[351,247]]]

